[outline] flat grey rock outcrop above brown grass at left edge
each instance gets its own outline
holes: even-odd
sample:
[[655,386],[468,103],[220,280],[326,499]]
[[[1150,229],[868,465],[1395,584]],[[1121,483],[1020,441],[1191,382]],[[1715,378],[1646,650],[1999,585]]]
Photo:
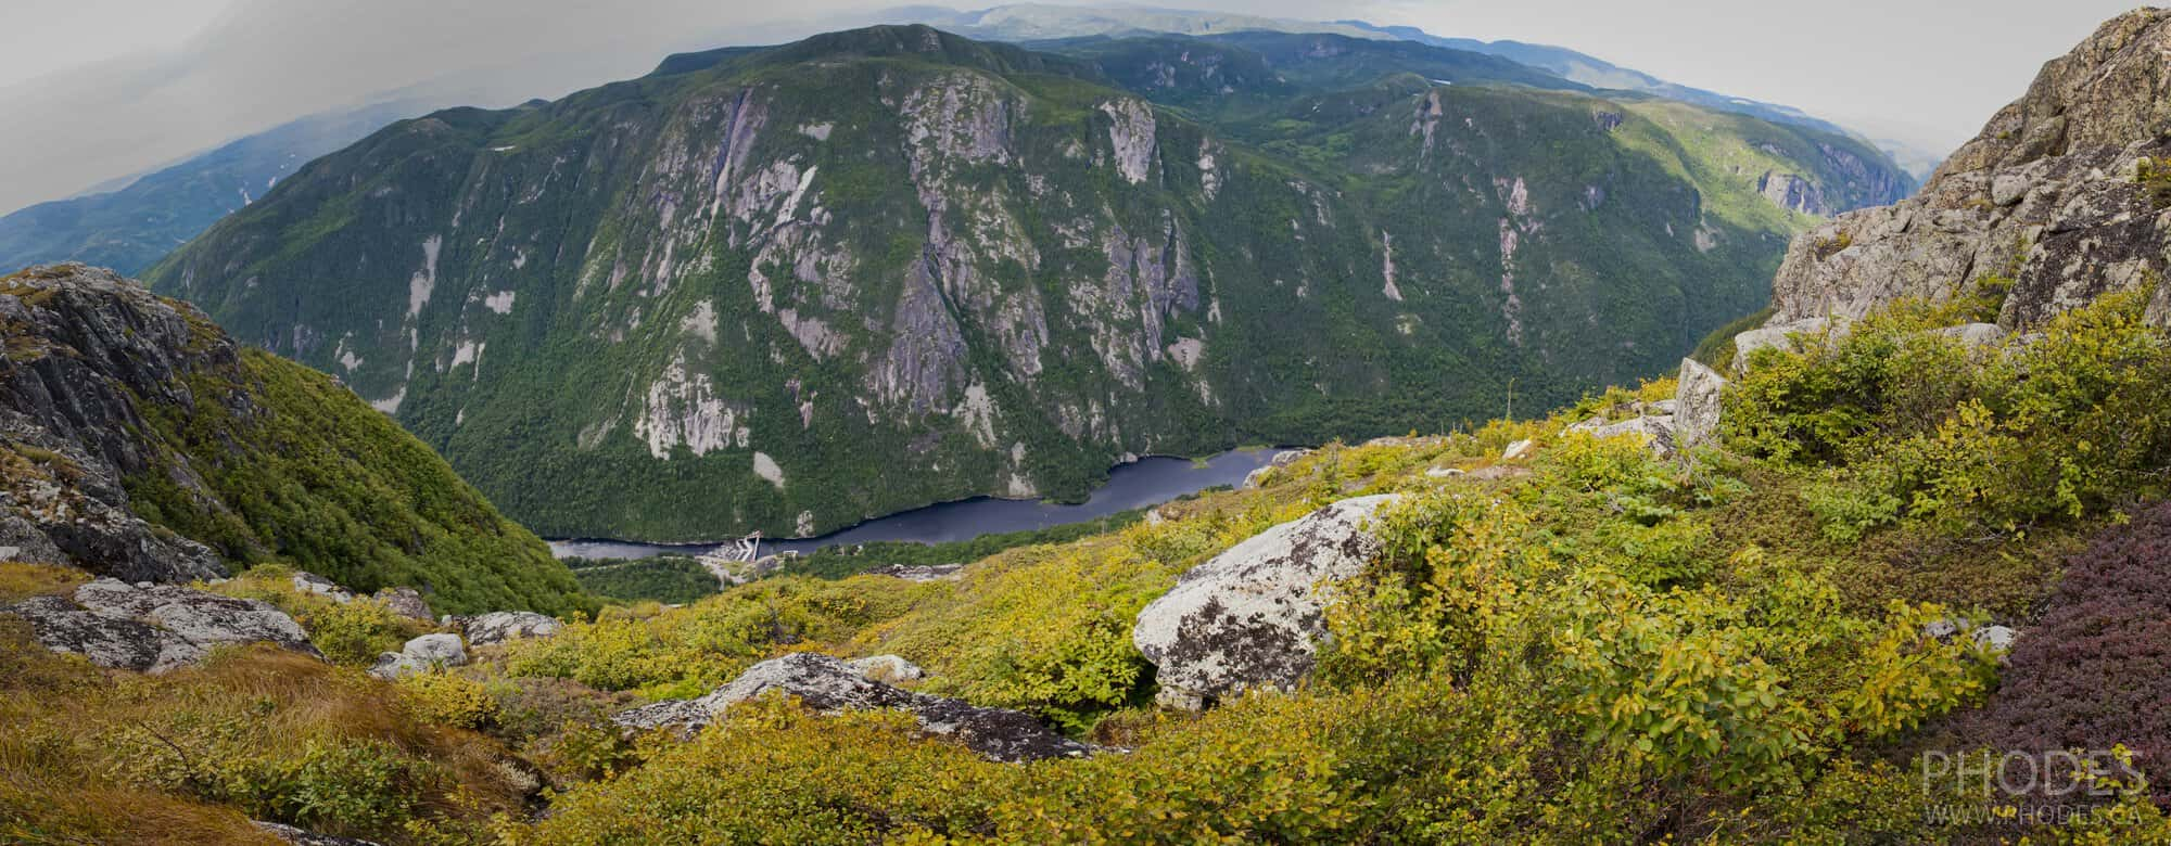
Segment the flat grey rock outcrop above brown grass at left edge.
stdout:
[[35,597],[0,612],[28,620],[46,649],[117,670],[165,672],[195,664],[213,646],[250,642],[323,657],[302,625],[267,603],[178,586],[98,579],[72,599]]

